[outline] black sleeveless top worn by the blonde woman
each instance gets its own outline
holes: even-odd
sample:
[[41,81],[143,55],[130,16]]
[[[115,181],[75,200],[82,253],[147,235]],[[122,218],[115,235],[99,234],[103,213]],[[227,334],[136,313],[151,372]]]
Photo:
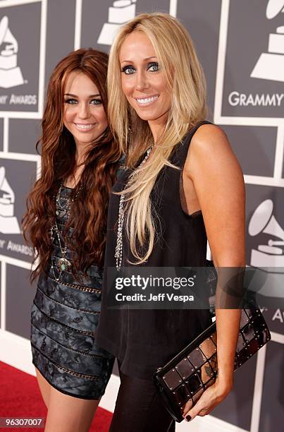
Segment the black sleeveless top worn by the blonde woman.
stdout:
[[[201,212],[188,215],[183,209],[180,189],[187,150],[192,136],[202,124],[193,128],[175,146],[171,162],[180,170],[163,167],[152,191],[152,203],[161,221],[161,233],[154,244],[147,267],[202,267],[206,265],[206,232]],[[125,172],[113,186],[121,191],[130,172]],[[151,379],[156,368],[183,349],[202,330],[211,324],[208,310],[129,310],[111,309],[106,305],[106,269],[116,267],[116,225],[120,196],[111,193],[109,203],[104,287],[97,343],[118,358],[121,371],[128,376]],[[123,234],[123,263],[130,266],[127,236]]]

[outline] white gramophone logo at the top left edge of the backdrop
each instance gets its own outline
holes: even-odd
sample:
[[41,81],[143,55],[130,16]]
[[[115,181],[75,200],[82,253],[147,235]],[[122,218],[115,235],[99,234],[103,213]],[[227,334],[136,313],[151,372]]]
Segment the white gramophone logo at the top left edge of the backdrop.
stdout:
[[8,28],[8,17],[0,21],[0,87],[11,88],[24,84],[22,72],[17,66],[18,42]]

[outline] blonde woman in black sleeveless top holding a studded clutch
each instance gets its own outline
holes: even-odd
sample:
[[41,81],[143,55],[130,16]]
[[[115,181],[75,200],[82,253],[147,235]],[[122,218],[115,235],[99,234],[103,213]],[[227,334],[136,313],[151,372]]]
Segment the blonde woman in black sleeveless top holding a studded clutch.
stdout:
[[[111,127],[129,169],[111,194],[106,267],[204,266],[207,239],[217,267],[245,265],[242,172],[225,133],[204,121],[204,74],[183,25],[163,13],[123,25],[108,85]],[[97,342],[121,373],[110,431],[173,430],[152,374],[209,325],[209,313],[113,311],[106,273],[104,289]],[[239,310],[216,310],[218,378],[185,409],[187,421],[230,392],[239,324]]]

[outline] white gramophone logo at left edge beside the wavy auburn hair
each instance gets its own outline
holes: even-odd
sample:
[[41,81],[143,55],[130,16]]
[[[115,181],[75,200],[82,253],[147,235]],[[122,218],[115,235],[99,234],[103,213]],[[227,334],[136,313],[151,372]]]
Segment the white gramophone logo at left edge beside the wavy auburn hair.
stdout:
[[14,203],[15,193],[6,180],[5,168],[0,167],[0,232],[3,234],[20,234]]

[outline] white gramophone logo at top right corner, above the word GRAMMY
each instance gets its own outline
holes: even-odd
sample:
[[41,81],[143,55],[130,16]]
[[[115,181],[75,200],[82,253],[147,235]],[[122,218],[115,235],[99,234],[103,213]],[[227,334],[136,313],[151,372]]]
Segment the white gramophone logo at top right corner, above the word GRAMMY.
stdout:
[[[284,0],[269,0],[266,18],[271,20],[280,12],[284,12]],[[269,35],[268,52],[261,54],[250,76],[284,82],[284,25]]]

